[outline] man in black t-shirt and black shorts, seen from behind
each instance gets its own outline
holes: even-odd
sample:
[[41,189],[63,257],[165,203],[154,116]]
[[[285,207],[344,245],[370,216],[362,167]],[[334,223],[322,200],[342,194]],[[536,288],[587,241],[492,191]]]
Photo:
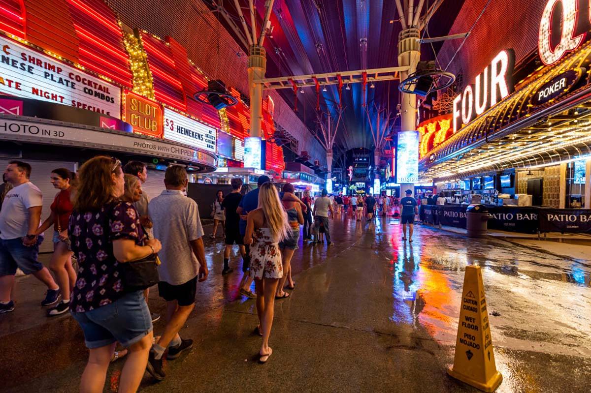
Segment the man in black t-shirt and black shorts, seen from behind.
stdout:
[[252,278],[250,274],[248,274],[248,258],[246,257],[244,238],[240,234],[240,215],[236,212],[238,205],[242,201],[242,194],[240,194],[242,179],[233,178],[230,183],[232,184],[232,192],[226,195],[222,201],[222,207],[226,211],[226,248],[223,251],[222,274],[232,272],[232,269],[229,267],[230,251],[232,251],[233,244],[238,244],[242,256],[242,271],[244,273],[242,280],[240,281],[240,293],[243,296],[255,299],[256,295],[249,289],[251,287]]

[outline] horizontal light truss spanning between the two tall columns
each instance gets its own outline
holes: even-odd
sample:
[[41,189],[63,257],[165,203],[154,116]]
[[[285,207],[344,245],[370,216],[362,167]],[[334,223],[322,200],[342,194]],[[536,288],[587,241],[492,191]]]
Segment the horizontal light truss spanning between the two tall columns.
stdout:
[[367,83],[400,80],[400,73],[404,71],[408,71],[408,67],[372,68],[371,70],[263,78],[254,80],[254,83],[264,84],[265,89],[293,89],[294,86],[299,89],[300,87],[316,86],[316,81],[320,86],[339,84],[339,77],[343,84],[363,83],[364,74]]

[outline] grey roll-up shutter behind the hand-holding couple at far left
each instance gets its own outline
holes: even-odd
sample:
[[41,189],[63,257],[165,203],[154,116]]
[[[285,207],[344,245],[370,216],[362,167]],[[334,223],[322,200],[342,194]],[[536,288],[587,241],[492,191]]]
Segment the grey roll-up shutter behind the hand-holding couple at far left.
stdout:
[[[2,169],[2,172],[4,172],[4,169],[12,160],[13,158],[0,158],[0,169]],[[70,171],[76,171],[77,163],[64,161],[37,161],[30,159],[21,161],[28,162],[31,165],[31,183],[36,185],[43,193],[43,210],[41,211],[41,222],[43,222],[49,217],[51,202],[53,202],[53,198],[55,198],[56,194],[59,192],[59,190],[51,185],[49,179],[51,171],[56,168],[66,168]],[[51,253],[53,252],[53,227],[45,231],[44,236],[45,240],[41,243],[39,252]]]

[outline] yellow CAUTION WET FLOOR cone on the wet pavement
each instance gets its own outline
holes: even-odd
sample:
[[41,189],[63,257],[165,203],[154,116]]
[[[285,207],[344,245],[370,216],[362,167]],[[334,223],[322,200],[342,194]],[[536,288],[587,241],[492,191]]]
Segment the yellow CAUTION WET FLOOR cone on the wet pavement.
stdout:
[[480,266],[466,266],[456,355],[447,374],[485,392],[495,391],[503,380],[496,371]]

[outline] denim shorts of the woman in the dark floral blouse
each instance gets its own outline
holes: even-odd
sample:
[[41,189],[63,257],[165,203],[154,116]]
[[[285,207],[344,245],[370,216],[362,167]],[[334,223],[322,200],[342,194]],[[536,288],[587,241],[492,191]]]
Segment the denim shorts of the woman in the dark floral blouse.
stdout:
[[152,318],[144,292],[129,292],[115,302],[72,316],[82,327],[87,348],[100,348],[116,341],[128,347],[152,331]]

